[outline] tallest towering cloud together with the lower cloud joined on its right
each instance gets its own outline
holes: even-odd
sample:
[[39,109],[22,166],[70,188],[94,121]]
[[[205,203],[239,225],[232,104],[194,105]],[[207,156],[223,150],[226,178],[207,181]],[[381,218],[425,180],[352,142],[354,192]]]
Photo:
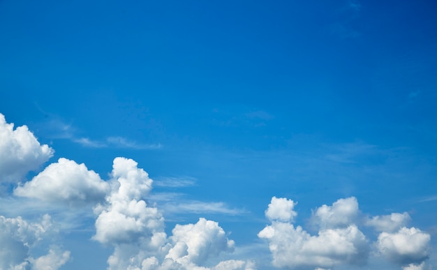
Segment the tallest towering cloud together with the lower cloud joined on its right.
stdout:
[[[209,257],[233,250],[234,242],[225,231],[205,218],[176,225],[167,237],[163,216],[144,200],[152,180],[137,166],[134,160],[115,158],[112,189],[105,203],[94,209],[98,218],[93,239],[114,246],[109,269],[196,269]],[[246,262],[221,262],[218,269],[231,264],[230,269],[242,269]]]

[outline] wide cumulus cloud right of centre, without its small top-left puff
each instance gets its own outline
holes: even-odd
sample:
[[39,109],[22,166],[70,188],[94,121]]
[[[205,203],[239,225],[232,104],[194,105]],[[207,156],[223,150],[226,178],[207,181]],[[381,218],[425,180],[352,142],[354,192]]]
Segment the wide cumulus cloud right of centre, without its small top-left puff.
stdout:
[[290,222],[272,220],[271,214],[267,216],[271,213],[267,210],[266,216],[272,220],[272,225],[259,232],[258,237],[269,241],[275,267],[314,269],[338,264],[361,265],[368,257],[369,243],[355,224],[347,223],[356,215],[357,209],[355,198],[338,200],[332,207],[320,207],[314,214],[321,221],[317,236],[311,236]]

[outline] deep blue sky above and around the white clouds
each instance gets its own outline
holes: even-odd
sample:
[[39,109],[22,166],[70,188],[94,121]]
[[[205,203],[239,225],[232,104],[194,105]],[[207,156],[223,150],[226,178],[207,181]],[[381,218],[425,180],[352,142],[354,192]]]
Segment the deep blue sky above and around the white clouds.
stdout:
[[[50,144],[52,162],[108,179],[126,156],[152,179],[197,179],[157,192],[245,211],[172,214],[168,229],[203,215],[247,244],[274,195],[299,202],[302,224],[355,196],[365,213],[408,211],[435,238],[436,12],[436,1],[1,1],[0,112]],[[161,148],[74,142],[108,136]]]

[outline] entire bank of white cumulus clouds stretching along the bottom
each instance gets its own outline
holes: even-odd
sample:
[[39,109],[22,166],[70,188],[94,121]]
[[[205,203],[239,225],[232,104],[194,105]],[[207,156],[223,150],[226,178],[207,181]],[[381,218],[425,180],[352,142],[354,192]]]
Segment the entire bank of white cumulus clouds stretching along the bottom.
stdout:
[[[108,269],[257,268],[256,258],[250,255],[242,260],[218,260],[233,253],[237,245],[214,220],[200,217],[196,223],[176,224],[168,235],[162,206],[149,201],[154,181],[135,160],[114,158],[110,177],[103,180],[83,163],[59,158],[30,181],[20,183],[19,179],[45,163],[53,150],[41,146],[26,126],[13,130],[13,124],[6,123],[2,114],[0,139],[0,176],[3,183],[16,183],[10,196],[55,204],[65,211],[92,209],[95,233],[90,241],[113,248]],[[173,188],[179,185],[168,183]],[[265,211],[269,225],[258,232],[258,237],[267,243],[273,267],[361,268],[372,256],[402,269],[427,267],[431,236],[407,227],[411,217],[406,212],[366,216],[355,197],[341,198],[313,210],[310,223],[317,232],[311,234],[295,224],[296,207],[293,200],[272,197]],[[198,201],[175,209],[199,214],[241,213],[224,211],[224,204]],[[39,211],[39,219],[30,221],[21,216],[0,216],[0,269],[59,269],[74,256],[52,240],[59,237],[55,224],[63,220],[52,220],[44,214],[47,209]],[[364,234],[363,227],[373,234]]]

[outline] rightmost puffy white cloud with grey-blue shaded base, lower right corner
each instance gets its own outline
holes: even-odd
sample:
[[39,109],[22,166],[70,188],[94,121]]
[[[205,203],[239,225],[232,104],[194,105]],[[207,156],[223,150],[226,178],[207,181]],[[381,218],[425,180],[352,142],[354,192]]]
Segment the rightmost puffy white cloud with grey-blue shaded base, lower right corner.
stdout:
[[381,232],[377,245],[388,260],[405,267],[416,267],[414,264],[422,263],[429,256],[430,240],[429,234],[415,227],[401,227],[398,232]]

